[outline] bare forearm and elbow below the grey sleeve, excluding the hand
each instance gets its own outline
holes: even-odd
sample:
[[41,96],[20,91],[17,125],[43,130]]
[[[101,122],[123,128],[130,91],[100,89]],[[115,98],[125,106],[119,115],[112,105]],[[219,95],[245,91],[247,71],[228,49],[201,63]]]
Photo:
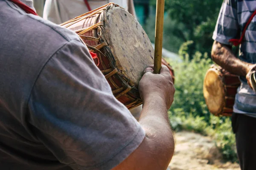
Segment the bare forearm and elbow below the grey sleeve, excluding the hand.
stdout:
[[167,116],[166,101],[158,95],[143,100],[140,125],[143,142],[125,161],[112,170],[166,170],[174,153],[174,139]]

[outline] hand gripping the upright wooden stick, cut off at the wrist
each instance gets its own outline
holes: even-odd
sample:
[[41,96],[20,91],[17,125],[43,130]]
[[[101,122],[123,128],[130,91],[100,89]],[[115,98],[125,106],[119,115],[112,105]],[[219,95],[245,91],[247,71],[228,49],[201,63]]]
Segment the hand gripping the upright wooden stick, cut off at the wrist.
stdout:
[[162,65],[160,74],[154,74],[154,65],[145,68],[144,75],[139,83],[140,97],[143,103],[146,99],[160,96],[166,101],[166,108],[169,109],[174,100],[175,88],[169,69]]

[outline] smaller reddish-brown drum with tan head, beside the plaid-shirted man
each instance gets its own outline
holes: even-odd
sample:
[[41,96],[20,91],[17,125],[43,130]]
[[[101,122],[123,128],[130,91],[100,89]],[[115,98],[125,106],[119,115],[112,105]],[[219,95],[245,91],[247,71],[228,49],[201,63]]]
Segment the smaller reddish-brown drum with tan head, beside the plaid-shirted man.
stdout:
[[240,84],[238,76],[212,65],[204,78],[204,99],[210,113],[215,116],[231,116]]

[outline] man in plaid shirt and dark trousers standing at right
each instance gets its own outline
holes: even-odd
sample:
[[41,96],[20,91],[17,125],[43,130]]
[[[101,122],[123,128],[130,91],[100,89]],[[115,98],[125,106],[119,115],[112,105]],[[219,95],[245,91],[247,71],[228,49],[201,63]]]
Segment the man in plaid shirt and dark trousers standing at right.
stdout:
[[[213,34],[212,59],[225,70],[240,76],[241,86],[236,94],[232,126],[242,170],[256,167],[256,93],[250,87],[250,75],[256,71],[256,11],[255,0],[225,0]],[[253,20],[248,23],[249,18]],[[245,29],[246,23],[248,24]],[[241,29],[242,30],[241,30]],[[238,38],[245,31],[244,37]],[[241,43],[240,59],[232,52],[230,42]]]

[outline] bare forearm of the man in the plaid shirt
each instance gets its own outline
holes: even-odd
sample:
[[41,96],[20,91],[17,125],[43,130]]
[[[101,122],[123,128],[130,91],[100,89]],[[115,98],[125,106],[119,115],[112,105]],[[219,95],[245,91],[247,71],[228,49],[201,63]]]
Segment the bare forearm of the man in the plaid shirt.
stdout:
[[246,76],[252,64],[236,58],[230,46],[215,41],[212,45],[212,60],[222,68],[239,76]]

